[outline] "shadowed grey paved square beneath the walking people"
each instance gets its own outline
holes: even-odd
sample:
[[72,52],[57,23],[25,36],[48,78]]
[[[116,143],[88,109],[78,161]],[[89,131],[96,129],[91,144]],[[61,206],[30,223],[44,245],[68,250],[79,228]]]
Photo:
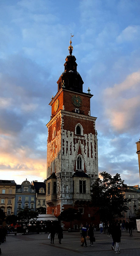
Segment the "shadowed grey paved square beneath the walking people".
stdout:
[[[107,234],[94,233],[96,242],[94,247],[80,246],[79,233],[64,233],[62,243],[58,243],[55,235],[54,244],[47,239],[48,234],[34,235],[11,235],[6,237],[6,242],[1,244],[2,256],[110,256],[114,255],[111,249],[112,237]],[[121,254],[125,256],[140,256],[140,233],[133,231],[133,236],[129,236],[128,232],[122,232],[121,236]]]

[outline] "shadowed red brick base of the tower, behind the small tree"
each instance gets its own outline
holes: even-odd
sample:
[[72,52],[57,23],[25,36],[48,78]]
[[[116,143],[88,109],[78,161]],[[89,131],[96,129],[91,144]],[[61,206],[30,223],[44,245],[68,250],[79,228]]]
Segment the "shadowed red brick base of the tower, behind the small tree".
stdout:
[[[72,221],[72,229],[73,230],[79,230],[80,224],[84,223],[92,223],[94,225],[99,225],[100,223],[100,216],[98,213],[98,208],[97,207],[91,207],[87,205],[87,202],[84,203],[75,203],[74,206],[72,204],[63,204],[62,205],[62,209],[63,211],[68,209],[68,208],[74,208],[77,211],[81,212],[81,217],[79,220],[74,220]],[[58,217],[60,215],[60,209],[61,209],[61,205],[57,205],[57,206],[47,206],[47,214],[54,214],[56,217]],[[63,221],[61,223],[61,225],[63,226],[64,230],[69,230],[71,228],[70,226],[70,222],[65,222]]]

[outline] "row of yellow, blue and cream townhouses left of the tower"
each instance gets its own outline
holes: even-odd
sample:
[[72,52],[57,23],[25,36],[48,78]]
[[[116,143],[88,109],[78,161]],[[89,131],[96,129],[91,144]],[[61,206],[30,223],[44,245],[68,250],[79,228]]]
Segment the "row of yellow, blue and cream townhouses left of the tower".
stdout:
[[5,215],[18,215],[20,209],[29,207],[33,211],[46,206],[46,184],[44,182],[29,182],[27,179],[21,185],[14,180],[0,180],[0,209]]

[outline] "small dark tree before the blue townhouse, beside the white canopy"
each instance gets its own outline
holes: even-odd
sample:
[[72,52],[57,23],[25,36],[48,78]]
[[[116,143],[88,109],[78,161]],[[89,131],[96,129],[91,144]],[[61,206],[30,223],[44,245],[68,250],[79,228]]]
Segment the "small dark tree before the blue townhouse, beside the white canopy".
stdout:
[[21,209],[18,213],[18,220],[21,222],[27,222],[29,225],[30,219],[36,219],[37,216],[37,212],[31,210],[29,207],[24,207],[24,209]]

